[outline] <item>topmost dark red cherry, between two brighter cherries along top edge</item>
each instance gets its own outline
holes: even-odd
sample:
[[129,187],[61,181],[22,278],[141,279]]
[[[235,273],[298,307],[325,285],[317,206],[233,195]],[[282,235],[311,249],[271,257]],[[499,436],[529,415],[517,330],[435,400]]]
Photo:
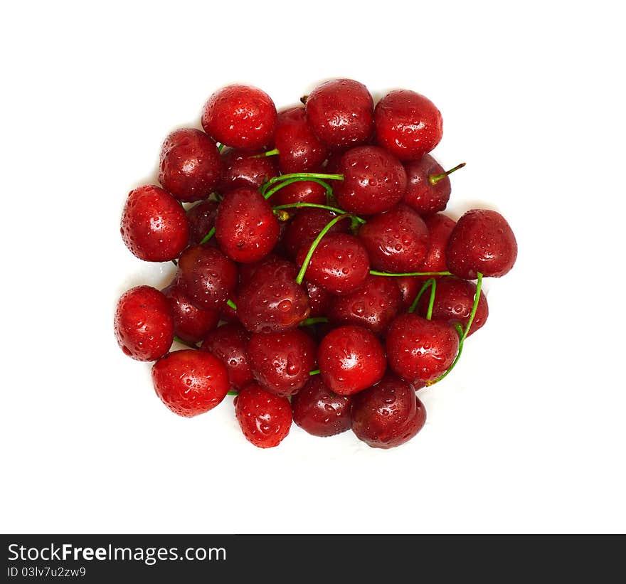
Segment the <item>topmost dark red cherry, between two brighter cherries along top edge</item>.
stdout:
[[309,93],[306,110],[313,132],[329,148],[364,144],[372,134],[373,100],[358,81],[322,83]]

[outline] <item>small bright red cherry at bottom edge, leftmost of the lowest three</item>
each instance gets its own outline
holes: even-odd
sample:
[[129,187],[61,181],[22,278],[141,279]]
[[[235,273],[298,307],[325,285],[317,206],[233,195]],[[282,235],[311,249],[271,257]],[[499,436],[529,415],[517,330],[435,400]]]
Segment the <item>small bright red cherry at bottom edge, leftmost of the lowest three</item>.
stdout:
[[259,448],[278,446],[292,423],[289,400],[258,383],[249,383],[235,397],[235,415],[243,435]]

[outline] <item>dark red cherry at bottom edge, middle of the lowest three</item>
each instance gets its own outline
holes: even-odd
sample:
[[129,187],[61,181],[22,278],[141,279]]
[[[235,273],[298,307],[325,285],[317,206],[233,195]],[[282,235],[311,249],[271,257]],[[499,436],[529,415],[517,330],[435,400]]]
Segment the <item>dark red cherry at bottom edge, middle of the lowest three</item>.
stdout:
[[337,395],[313,375],[291,400],[294,422],[314,436],[334,436],[352,427],[352,398]]

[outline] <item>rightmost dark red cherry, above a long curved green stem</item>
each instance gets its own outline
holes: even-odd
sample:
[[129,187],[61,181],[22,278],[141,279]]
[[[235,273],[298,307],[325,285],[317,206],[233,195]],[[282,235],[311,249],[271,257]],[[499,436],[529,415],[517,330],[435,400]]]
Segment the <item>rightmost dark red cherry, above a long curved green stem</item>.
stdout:
[[507,274],[517,259],[517,241],[506,219],[489,209],[467,211],[450,234],[447,267],[466,280]]

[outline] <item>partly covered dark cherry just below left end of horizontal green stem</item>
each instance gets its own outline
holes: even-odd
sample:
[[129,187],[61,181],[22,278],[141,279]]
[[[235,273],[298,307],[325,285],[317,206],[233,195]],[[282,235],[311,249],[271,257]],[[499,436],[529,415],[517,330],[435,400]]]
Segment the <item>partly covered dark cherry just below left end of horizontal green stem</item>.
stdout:
[[400,302],[400,290],[393,278],[370,275],[356,292],[334,296],[327,314],[331,322],[360,324],[383,334],[398,314]]

